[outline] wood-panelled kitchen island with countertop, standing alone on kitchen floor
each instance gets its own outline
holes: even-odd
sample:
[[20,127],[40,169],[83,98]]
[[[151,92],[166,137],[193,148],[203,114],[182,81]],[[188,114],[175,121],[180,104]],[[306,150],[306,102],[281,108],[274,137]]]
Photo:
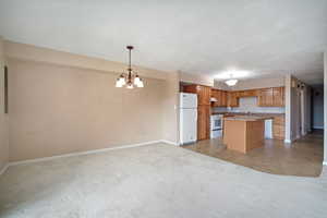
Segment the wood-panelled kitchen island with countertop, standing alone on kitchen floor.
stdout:
[[234,116],[223,119],[223,144],[228,149],[246,154],[262,147],[265,140],[265,120],[271,117]]

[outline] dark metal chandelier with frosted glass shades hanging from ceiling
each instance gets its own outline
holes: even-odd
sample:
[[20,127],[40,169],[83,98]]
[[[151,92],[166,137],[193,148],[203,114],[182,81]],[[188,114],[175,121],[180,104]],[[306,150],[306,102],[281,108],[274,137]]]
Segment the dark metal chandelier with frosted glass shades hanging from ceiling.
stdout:
[[116,87],[126,87],[126,88],[134,88],[138,87],[142,88],[144,87],[143,80],[137,75],[136,72],[132,70],[131,65],[131,51],[134,48],[133,46],[126,46],[129,49],[130,53],[130,61],[129,61],[129,68],[128,68],[128,73],[122,73],[116,81]]

